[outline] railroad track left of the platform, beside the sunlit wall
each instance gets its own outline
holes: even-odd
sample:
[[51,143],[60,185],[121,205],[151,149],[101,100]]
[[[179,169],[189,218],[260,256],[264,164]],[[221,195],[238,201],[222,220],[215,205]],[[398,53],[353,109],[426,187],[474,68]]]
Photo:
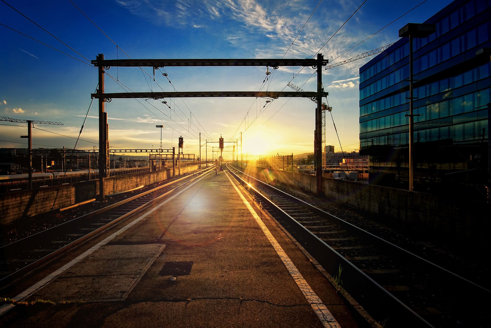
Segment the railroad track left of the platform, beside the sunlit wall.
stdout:
[[58,254],[97,235],[212,169],[207,168],[165,183],[131,198],[1,246],[0,286],[21,277]]

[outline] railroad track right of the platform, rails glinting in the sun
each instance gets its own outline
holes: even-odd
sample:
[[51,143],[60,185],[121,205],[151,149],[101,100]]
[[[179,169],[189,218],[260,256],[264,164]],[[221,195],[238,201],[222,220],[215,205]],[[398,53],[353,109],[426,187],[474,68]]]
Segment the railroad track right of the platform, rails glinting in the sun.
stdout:
[[384,327],[489,327],[488,289],[229,164],[227,168]]

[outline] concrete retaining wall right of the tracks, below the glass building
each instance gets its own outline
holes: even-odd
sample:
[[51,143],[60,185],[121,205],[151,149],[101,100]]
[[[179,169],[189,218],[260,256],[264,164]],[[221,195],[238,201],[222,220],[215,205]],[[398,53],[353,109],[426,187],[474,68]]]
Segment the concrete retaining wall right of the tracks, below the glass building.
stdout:
[[[246,173],[262,181],[277,181],[293,189],[315,194],[316,177],[288,171],[244,165]],[[491,205],[483,202],[448,199],[432,194],[365,184],[357,181],[323,179],[327,198],[345,203],[375,215],[379,222],[414,228],[442,239],[455,238],[488,245],[491,228]],[[464,241],[463,241],[464,242]]]

